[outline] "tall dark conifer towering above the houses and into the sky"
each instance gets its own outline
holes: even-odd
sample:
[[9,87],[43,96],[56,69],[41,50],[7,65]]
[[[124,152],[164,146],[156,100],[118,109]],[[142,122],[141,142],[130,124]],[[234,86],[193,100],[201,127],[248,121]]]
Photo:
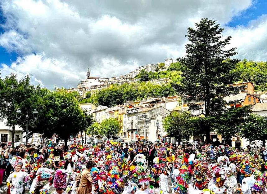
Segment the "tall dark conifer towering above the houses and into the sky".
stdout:
[[233,70],[239,60],[230,59],[236,54],[235,48],[224,49],[231,37],[223,39],[222,32],[219,24],[207,18],[197,23],[196,29],[188,28],[187,54],[177,59],[185,67],[186,76],[181,85],[173,84],[185,100],[194,101],[189,104],[190,110],[203,110],[205,117],[199,119],[199,126],[208,142],[216,123],[214,118],[225,106],[223,98],[239,92],[238,88],[229,86],[238,80],[238,73]]

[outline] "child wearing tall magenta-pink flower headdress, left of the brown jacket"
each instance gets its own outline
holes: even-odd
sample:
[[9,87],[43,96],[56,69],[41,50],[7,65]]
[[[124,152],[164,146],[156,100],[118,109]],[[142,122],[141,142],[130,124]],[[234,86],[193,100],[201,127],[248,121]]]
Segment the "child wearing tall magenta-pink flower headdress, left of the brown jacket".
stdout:
[[56,188],[56,191],[52,194],[67,194],[67,192],[63,190],[67,186],[66,179],[66,171],[64,169],[58,169],[54,177],[54,187]]

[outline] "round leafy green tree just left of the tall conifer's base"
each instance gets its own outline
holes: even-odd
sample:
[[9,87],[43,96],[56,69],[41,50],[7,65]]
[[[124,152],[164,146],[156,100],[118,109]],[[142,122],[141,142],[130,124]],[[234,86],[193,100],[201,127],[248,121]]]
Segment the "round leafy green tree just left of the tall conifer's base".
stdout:
[[182,138],[187,139],[197,133],[198,117],[192,117],[187,112],[172,112],[163,120],[163,128],[170,135],[175,137],[179,145]]

